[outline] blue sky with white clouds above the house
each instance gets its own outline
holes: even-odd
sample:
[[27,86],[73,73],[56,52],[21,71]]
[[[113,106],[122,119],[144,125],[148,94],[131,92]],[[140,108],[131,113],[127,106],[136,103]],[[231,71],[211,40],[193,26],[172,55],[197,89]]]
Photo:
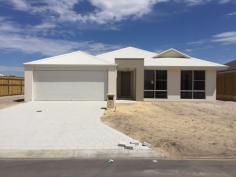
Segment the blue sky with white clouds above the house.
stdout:
[[236,0],[0,0],[0,73],[76,50],[134,46],[236,59]]

